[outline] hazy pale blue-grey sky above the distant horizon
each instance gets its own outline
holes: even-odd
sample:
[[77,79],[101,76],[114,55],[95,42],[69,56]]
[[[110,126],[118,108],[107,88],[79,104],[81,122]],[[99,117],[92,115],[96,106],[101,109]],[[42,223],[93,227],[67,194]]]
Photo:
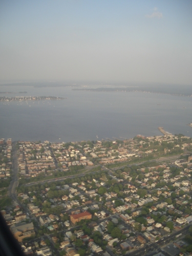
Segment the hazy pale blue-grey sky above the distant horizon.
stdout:
[[1,0],[0,79],[192,84],[192,1]]

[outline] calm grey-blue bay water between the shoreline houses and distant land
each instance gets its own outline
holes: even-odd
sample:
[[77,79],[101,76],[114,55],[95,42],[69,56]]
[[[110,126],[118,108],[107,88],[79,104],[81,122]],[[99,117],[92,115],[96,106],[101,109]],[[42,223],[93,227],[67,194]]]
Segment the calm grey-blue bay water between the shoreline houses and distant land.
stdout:
[[[27,94],[18,92],[27,91]],[[81,141],[172,134],[192,137],[192,98],[165,94],[72,91],[70,87],[0,86],[0,96],[60,96],[64,100],[0,102],[0,137]],[[98,136],[98,137],[97,137]]]

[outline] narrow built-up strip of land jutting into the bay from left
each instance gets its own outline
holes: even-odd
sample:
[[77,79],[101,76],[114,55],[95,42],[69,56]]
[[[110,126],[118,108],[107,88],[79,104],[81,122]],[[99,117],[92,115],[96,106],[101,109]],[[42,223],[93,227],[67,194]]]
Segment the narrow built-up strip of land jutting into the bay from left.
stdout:
[[14,101],[14,100],[56,100],[56,99],[65,99],[62,97],[55,96],[15,96],[15,97],[0,97],[0,101]]

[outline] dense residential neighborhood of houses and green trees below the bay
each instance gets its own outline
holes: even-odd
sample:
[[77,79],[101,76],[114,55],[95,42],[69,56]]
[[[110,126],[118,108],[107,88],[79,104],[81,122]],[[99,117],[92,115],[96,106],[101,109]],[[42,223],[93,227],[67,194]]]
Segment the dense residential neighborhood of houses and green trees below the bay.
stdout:
[[12,147],[18,167],[1,212],[26,255],[192,253],[191,138],[1,141],[1,182]]

